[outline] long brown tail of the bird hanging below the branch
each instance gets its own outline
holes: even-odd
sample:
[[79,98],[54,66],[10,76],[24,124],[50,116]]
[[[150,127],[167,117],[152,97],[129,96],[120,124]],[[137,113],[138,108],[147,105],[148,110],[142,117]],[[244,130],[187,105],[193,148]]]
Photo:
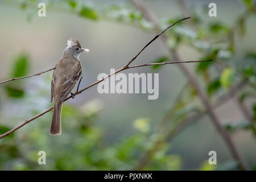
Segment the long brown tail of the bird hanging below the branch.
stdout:
[[62,102],[56,101],[53,105],[52,123],[49,131],[50,135],[61,135],[61,110]]

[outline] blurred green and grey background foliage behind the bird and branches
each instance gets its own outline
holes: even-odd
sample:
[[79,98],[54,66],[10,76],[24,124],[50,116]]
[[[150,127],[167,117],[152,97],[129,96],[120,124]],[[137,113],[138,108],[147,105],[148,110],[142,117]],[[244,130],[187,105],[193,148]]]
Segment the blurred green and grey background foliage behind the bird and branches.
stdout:
[[[46,17],[38,16],[40,2]],[[48,134],[50,111],[0,139],[0,169],[255,170],[255,2],[215,0],[216,17],[208,15],[210,2],[1,1],[0,81],[53,68],[74,36],[90,49],[80,56],[84,88],[187,16],[192,18],[170,28],[133,65],[214,61],[123,72],[159,73],[157,100],[99,94],[93,86],[65,102],[60,136]],[[0,134],[51,106],[51,76],[0,85]],[[46,165],[38,164],[39,151],[46,151]],[[217,152],[217,165],[208,163],[209,151]]]

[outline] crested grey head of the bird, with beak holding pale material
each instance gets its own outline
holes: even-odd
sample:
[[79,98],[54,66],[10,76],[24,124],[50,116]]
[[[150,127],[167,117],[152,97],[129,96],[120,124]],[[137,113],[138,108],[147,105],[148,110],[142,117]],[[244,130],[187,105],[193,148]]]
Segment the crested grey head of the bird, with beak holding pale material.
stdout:
[[79,57],[82,52],[89,52],[89,49],[82,48],[76,38],[69,38],[65,48],[65,52],[71,53],[74,57]]

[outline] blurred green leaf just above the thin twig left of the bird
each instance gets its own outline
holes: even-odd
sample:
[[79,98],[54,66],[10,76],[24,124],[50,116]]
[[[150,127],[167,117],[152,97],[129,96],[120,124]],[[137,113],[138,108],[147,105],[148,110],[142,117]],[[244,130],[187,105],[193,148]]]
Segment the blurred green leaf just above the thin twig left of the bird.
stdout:
[[28,55],[25,53],[20,54],[14,60],[12,77],[16,78],[27,75],[29,66]]

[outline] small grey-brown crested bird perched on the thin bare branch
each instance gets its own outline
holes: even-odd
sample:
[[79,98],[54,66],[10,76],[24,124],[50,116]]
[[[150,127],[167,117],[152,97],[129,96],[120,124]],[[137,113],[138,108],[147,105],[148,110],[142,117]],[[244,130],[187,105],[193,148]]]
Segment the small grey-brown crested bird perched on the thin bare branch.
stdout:
[[[76,82],[82,75],[82,65],[79,56],[89,49],[82,48],[76,38],[69,38],[63,56],[55,65],[51,81],[51,102],[53,101],[50,135],[61,135],[61,110],[65,99],[72,92]],[[74,98],[73,93],[71,93]]]

